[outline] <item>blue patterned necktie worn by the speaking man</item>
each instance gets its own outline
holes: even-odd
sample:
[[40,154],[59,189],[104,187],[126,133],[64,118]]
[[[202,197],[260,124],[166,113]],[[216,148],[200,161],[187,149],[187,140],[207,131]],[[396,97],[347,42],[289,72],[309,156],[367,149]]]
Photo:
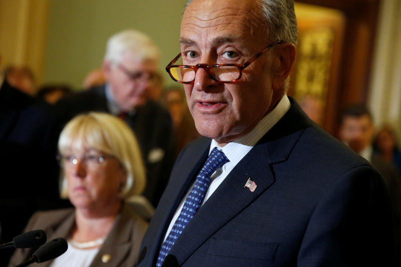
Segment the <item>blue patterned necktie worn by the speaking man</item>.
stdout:
[[178,236],[181,234],[188,222],[193,218],[193,215],[195,215],[197,209],[202,203],[210,184],[210,176],[228,161],[229,159],[223,151],[219,151],[216,147],[212,150],[212,153],[209,155],[204,166],[196,176],[195,184],[193,185],[189,195],[186,197],[184,206],[182,207],[177,220],[160,248],[156,262],[157,267],[161,266],[168,251],[170,251]]

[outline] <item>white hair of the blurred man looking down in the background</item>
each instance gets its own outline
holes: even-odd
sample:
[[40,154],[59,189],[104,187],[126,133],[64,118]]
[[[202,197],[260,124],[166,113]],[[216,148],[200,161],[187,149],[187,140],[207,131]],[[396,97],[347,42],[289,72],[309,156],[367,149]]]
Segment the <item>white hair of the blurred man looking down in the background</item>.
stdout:
[[136,30],[125,30],[116,33],[107,41],[104,60],[120,62],[125,52],[131,52],[139,60],[157,61],[160,50],[147,35]]

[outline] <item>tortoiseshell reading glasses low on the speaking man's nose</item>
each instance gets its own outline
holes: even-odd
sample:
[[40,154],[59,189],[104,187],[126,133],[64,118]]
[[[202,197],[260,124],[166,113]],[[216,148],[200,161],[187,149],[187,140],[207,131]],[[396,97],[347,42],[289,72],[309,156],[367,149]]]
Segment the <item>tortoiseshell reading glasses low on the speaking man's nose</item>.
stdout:
[[261,52],[253,56],[247,62],[242,65],[239,64],[218,64],[218,65],[207,65],[207,64],[197,64],[195,66],[189,65],[173,65],[180,57],[181,53],[179,53],[166,67],[166,71],[170,75],[170,77],[176,81],[177,83],[187,84],[193,82],[195,80],[196,71],[199,68],[203,68],[209,75],[213,78],[213,80],[219,83],[233,83],[241,79],[242,70],[251,65],[256,59],[263,55],[266,51],[268,51],[271,47],[276,44],[283,44],[282,41],[275,41],[264,48]]

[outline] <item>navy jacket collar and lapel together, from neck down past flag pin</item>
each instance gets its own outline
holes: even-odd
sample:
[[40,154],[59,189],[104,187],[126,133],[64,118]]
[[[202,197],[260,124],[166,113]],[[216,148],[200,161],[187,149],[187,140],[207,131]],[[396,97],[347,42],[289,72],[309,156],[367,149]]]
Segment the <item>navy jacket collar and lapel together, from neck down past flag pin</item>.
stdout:
[[[274,184],[271,164],[288,159],[307,124],[299,106],[290,100],[286,115],[237,164],[178,237],[169,252],[178,264]],[[249,177],[257,184],[254,192],[244,188]]]

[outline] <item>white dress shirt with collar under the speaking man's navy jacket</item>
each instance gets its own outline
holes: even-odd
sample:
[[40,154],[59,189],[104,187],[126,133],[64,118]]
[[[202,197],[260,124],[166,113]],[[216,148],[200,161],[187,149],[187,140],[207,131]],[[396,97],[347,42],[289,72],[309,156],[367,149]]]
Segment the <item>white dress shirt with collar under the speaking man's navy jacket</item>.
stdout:
[[[248,134],[242,138],[232,141],[221,147],[215,140],[212,140],[209,154],[212,149],[217,147],[222,150],[226,157],[230,160],[224,164],[221,168],[216,170],[211,176],[211,182],[208,190],[206,191],[205,197],[203,199],[202,205],[208,200],[208,198],[215,192],[219,185],[226,179],[229,173],[234,169],[234,167],[245,157],[246,154],[256,145],[256,143],[284,116],[284,114],[290,109],[291,103],[288,97],[284,95],[276,107],[269,112],[262,120],[253,128]],[[193,182],[194,183],[194,182]],[[192,184],[193,186],[193,184]],[[186,197],[189,195],[192,186],[189,188],[186,195],[183,197],[181,203],[176,209],[174,216],[171,219],[170,225],[168,226],[167,232],[164,236],[164,240],[170,233],[172,226],[174,225],[176,219],[181,212],[184,205]]]

